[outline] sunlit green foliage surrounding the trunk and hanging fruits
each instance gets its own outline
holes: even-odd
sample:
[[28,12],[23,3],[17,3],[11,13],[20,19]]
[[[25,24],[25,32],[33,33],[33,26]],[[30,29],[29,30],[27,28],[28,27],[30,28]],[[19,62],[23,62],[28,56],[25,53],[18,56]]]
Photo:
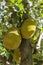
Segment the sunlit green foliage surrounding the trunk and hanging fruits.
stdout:
[[[8,50],[3,46],[3,37],[5,33],[11,28],[18,27],[21,28],[21,24],[26,19],[32,17],[33,20],[37,21],[37,28],[34,36],[31,38],[33,52],[36,47],[35,42],[37,41],[40,31],[43,31],[43,0],[28,0],[28,12],[27,8],[24,8],[22,0],[0,0],[0,55],[2,55],[6,61],[10,59],[11,64],[15,64],[12,60],[12,55],[14,51]],[[25,18],[25,19],[24,19]],[[35,22],[36,23],[36,22]],[[33,54],[35,65],[42,62],[41,52],[38,54]],[[2,62],[0,62],[2,64]],[[40,64],[41,65],[41,64]]]

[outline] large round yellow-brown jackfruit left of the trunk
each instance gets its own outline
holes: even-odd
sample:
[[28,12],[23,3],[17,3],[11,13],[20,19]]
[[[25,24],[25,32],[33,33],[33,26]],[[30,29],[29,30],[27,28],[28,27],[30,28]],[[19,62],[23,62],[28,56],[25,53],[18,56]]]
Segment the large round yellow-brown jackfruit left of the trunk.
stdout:
[[21,44],[21,35],[17,28],[7,32],[3,39],[4,46],[9,50],[17,49]]

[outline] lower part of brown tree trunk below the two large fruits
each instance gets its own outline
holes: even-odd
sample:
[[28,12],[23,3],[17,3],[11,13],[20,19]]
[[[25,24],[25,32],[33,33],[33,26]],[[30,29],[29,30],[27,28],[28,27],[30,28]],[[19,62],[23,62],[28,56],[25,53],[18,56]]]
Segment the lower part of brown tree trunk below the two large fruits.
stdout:
[[30,40],[22,40],[21,46],[21,64],[20,65],[32,65],[32,47]]

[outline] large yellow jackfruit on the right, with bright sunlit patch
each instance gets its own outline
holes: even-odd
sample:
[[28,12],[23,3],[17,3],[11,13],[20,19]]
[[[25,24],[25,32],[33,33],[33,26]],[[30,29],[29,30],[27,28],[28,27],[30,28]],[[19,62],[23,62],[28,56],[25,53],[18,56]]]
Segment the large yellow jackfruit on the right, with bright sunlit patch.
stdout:
[[21,34],[25,39],[31,38],[36,31],[36,25],[34,20],[27,19],[21,25]]

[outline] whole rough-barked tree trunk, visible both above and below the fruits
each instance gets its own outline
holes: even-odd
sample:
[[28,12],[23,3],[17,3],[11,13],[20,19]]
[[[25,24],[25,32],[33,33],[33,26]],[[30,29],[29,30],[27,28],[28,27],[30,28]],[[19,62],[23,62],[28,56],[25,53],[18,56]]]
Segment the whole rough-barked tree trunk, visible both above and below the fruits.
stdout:
[[[28,0],[22,0],[22,3],[25,8],[25,15],[23,16],[24,20],[28,18],[28,11],[29,11],[29,2]],[[21,46],[21,64],[20,65],[32,65],[32,47],[31,47],[31,40],[23,39]]]

